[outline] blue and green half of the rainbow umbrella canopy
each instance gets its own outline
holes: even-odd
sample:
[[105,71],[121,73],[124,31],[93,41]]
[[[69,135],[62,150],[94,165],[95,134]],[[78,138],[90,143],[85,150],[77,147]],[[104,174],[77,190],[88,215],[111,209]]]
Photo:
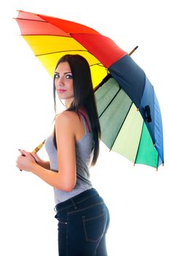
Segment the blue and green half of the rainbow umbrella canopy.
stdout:
[[95,91],[103,143],[135,164],[164,163],[162,118],[154,87],[125,55]]

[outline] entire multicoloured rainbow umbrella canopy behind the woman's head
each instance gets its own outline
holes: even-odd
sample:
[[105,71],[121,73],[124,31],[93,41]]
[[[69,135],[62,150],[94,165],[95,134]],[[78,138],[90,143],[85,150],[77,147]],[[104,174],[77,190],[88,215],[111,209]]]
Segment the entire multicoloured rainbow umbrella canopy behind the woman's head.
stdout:
[[[162,118],[154,87],[129,54],[109,37],[69,20],[19,11],[20,31],[53,77],[64,54],[90,64],[101,140],[135,164],[164,163]],[[39,147],[40,148],[40,147]]]

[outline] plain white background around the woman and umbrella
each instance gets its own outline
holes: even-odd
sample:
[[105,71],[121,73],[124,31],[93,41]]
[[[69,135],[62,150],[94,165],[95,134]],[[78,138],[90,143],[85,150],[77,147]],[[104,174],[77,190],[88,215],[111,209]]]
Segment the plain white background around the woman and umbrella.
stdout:
[[[3,4],[2,4],[3,3]],[[52,187],[15,167],[17,148],[34,149],[52,130],[52,79],[13,17],[16,10],[93,27],[130,52],[154,85],[162,112],[165,167],[136,165],[101,145],[93,185],[111,214],[109,255],[169,255],[167,1],[1,1],[0,255],[58,255]],[[46,158],[44,150],[39,153]],[[89,255],[90,256],[90,255]]]

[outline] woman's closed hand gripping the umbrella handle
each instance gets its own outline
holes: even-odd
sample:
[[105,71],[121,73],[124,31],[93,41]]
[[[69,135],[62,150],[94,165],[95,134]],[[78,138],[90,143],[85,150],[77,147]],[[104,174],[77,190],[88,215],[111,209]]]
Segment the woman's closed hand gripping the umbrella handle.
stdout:
[[27,171],[31,171],[33,166],[36,165],[36,160],[35,158],[32,156],[32,154],[30,152],[27,152],[25,150],[19,150],[21,155],[19,157],[17,157],[17,167],[20,170],[27,170]]

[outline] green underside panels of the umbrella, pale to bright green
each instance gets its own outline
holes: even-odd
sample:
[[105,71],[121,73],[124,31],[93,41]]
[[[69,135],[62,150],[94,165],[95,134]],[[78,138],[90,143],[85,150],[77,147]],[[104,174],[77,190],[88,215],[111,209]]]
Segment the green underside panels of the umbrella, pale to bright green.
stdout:
[[136,164],[157,167],[158,153],[141,113],[114,78],[95,91],[101,140]]

